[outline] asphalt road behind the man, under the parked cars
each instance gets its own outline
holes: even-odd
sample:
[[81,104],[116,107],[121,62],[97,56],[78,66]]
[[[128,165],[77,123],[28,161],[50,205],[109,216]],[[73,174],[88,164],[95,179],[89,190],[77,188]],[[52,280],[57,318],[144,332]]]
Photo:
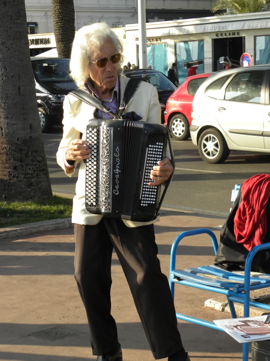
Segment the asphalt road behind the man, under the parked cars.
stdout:
[[[75,194],[76,174],[67,177],[56,162],[61,128],[43,134],[52,190]],[[270,155],[231,152],[223,164],[208,164],[199,156],[191,139],[173,141],[174,179],[166,193],[163,208],[227,216],[231,207],[231,190],[254,174],[270,174]]]

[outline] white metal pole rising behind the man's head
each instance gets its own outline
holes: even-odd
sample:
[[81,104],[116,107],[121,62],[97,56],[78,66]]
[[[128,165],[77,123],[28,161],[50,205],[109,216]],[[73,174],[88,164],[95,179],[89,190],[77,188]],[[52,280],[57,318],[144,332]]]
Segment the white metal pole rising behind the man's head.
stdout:
[[146,15],[145,0],[138,0],[139,21],[139,63],[140,68],[147,68],[147,46],[146,46]]

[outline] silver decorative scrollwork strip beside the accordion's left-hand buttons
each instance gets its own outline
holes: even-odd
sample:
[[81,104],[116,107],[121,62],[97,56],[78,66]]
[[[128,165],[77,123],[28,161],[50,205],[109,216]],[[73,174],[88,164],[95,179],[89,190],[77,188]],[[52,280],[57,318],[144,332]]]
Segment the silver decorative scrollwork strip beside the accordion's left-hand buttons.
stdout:
[[100,161],[101,169],[101,197],[100,207],[103,212],[111,212],[111,128],[102,128],[102,156]]

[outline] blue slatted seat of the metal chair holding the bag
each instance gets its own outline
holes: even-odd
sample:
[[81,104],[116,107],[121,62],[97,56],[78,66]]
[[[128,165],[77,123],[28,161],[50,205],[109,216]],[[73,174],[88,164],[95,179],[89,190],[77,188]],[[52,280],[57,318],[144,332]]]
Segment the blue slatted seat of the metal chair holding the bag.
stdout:
[[[175,270],[171,272],[176,278],[185,279],[212,287],[232,289],[234,292],[244,290],[244,272],[229,272],[218,266],[201,266],[198,268],[186,268],[185,271]],[[269,283],[270,275],[251,272],[251,285]]]

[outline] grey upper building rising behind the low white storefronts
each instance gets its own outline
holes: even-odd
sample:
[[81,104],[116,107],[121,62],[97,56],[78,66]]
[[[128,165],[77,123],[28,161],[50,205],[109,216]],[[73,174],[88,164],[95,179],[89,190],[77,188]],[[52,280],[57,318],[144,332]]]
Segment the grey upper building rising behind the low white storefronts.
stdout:
[[[146,21],[210,16],[215,0],[146,0]],[[53,33],[52,0],[25,0],[29,34]],[[75,28],[105,21],[110,27],[134,24],[137,0],[74,0]]]

